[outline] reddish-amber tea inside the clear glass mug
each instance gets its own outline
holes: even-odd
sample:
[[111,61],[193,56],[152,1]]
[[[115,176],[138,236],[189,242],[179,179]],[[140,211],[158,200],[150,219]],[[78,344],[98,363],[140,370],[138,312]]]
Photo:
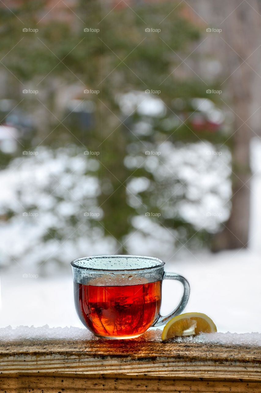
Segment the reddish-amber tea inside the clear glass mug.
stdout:
[[140,285],[95,286],[75,283],[80,320],[97,336],[136,336],[155,321],[161,281]]

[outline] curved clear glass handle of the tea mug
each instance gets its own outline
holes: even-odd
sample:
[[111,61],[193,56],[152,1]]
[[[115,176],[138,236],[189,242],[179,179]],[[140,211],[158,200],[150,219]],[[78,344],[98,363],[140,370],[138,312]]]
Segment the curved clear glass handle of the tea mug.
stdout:
[[181,312],[185,309],[185,307],[188,303],[190,286],[188,284],[188,281],[185,279],[185,277],[183,277],[183,275],[179,275],[176,273],[164,272],[162,279],[163,280],[178,280],[178,281],[180,281],[184,286],[184,292],[183,292],[183,296],[182,296],[182,299],[181,299],[178,307],[173,312],[171,312],[169,315],[162,316],[159,314],[158,319],[153,323],[152,326],[165,325],[165,323],[169,322],[171,320],[171,318],[173,318],[174,316],[176,316],[178,314],[181,314]]

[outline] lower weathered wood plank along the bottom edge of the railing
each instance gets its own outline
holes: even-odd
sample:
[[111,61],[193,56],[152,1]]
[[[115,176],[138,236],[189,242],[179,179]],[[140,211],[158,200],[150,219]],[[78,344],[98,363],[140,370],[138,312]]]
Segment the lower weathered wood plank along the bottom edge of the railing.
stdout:
[[29,393],[104,392],[179,392],[179,393],[253,393],[261,391],[260,382],[243,380],[208,380],[207,378],[158,378],[126,375],[11,374],[0,379],[0,392]]

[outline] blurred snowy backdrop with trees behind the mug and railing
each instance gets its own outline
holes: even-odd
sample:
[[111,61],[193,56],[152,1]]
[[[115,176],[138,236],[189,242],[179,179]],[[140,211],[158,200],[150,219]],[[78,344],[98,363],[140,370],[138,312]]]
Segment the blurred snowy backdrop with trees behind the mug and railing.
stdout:
[[0,26],[0,327],[82,326],[70,261],[134,254],[261,332],[261,2],[9,0]]

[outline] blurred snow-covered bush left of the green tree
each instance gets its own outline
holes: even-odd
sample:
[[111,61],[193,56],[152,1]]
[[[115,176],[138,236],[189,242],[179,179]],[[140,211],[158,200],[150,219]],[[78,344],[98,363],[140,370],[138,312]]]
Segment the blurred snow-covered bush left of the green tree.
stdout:
[[77,257],[112,252],[98,223],[99,162],[78,147],[13,160],[0,173],[0,265],[51,271]]

